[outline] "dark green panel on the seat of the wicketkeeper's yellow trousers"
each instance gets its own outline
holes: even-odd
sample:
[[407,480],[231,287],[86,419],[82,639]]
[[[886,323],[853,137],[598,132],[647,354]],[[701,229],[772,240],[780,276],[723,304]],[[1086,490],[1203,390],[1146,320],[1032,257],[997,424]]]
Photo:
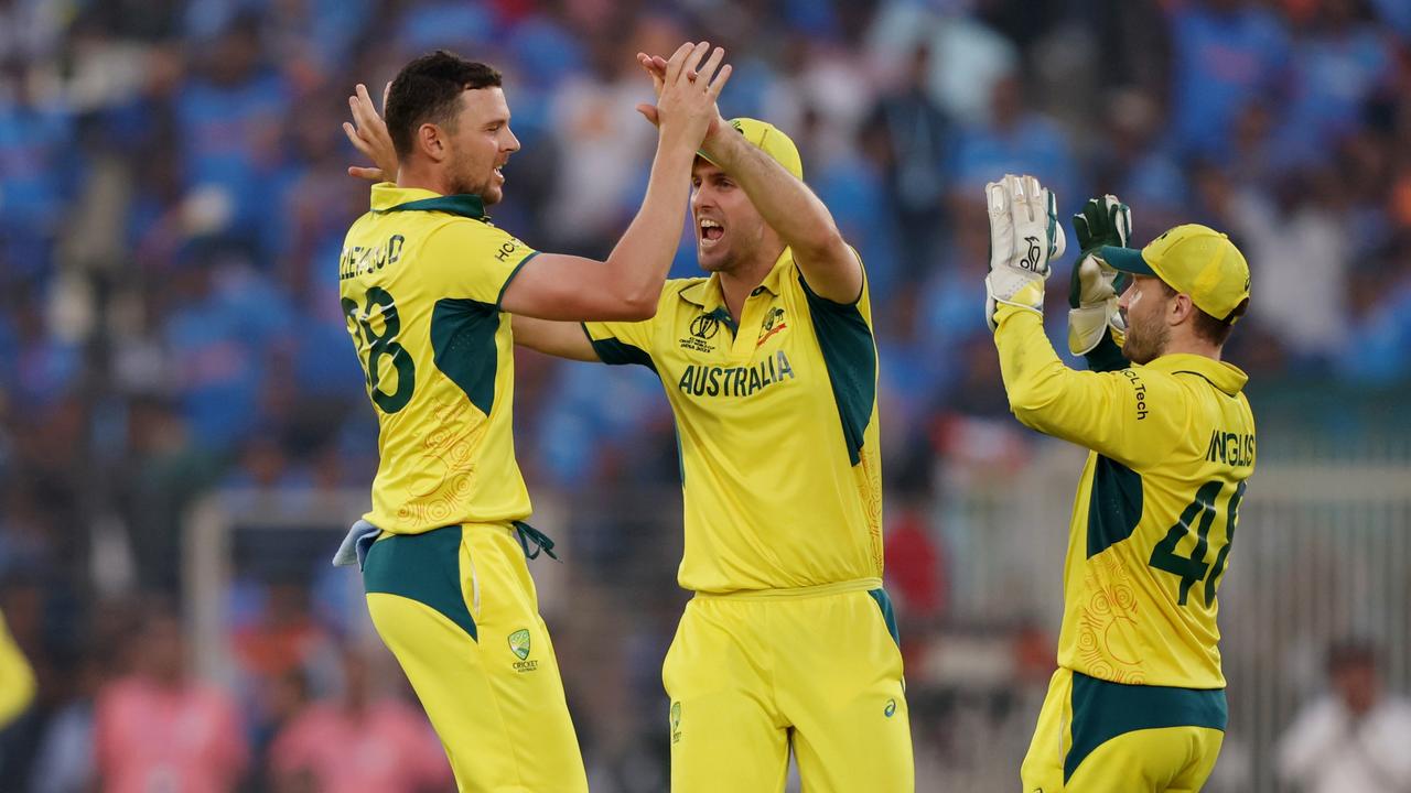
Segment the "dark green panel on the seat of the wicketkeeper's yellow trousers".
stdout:
[[1223,732],[1229,721],[1225,689],[1123,686],[1074,672],[1071,696],[1072,748],[1064,758],[1064,782],[1098,746],[1123,732],[1164,727],[1208,727]]

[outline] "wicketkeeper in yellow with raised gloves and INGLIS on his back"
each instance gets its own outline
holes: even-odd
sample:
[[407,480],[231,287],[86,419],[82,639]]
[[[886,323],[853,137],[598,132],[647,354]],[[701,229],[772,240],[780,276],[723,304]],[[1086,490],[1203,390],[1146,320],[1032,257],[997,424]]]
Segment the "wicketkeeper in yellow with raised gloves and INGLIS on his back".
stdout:
[[[1064,250],[1055,200],[1033,176],[992,182],[986,198],[986,313],[1010,409],[1092,450],[1023,790],[1199,790],[1226,722],[1216,590],[1254,467],[1247,378],[1221,361],[1249,305],[1249,265],[1195,224],[1127,248],[1127,207],[1088,202],[1074,219],[1068,339],[1095,371],[1072,371],[1043,330],[1044,279]],[[1119,277],[1130,279],[1120,298]]]

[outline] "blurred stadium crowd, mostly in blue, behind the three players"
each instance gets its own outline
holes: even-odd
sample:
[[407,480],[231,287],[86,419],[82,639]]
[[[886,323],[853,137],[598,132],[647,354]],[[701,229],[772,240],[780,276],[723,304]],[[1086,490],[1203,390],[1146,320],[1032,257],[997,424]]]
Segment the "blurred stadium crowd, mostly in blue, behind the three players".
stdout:
[[[722,111],[793,135],[868,265],[920,790],[1017,786],[1082,460],[1007,416],[979,189],[1005,172],[1064,217],[1118,193],[1137,241],[1226,230],[1253,268],[1228,358],[1259,466],[1221,590],[1232,721],[1209,790],[1297,789],[1276,745],[1331,642],[1374,638],[1388,689],[1411,687],[1404,0],[7,0],[0,611],[41,698],[0,734],[0,789],[87,789],[103,730],[138,728],[92,704],[154,652],[134,625],[164,608],[238,708],[241,790],[275,789],[282,731],[363,663],[408,696],[327,563],[377,454],[337,301],[367,206],[346,97],[436,47],[501,68],[523,151],[495,222],[604,255],[653,147],[632,56],[686,38],[728,48]],[[1071,262],[1050,282],[1060,346]],[[687,236],[673,275],[694,270]],[[532,567],[594,790],[663,790],[659,667],[686,595],[660,385],[532,353],[516,375],[533,522],[564,557]]]

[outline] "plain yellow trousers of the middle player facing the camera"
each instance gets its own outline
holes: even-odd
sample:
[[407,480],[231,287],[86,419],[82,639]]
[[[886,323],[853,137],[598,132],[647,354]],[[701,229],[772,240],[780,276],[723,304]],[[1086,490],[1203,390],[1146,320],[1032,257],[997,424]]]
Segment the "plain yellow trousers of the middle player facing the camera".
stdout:
[[697,595],[662,670],[672,792],[913,790],[902,653],[865,590]]

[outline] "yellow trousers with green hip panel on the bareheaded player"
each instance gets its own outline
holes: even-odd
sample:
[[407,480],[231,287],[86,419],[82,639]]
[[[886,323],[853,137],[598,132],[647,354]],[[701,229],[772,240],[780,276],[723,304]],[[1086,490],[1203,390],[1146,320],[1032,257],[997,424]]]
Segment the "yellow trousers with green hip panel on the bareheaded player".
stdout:
[[[553,643],[512,529],[468,525],[430,533],[440,532],[456,535],[447,545],[459,552],[419,564],[394,556],[398,543],[422,536],[387,533],[373,543],[367,605],[446,748],[457,789],[587,792]],[[446,586],[428,590],[426,581]],[[422,600],[371,591],[402,584],[420,584]],[[470,615],[477,638],[442,611],[461,614],[457,608]]]

